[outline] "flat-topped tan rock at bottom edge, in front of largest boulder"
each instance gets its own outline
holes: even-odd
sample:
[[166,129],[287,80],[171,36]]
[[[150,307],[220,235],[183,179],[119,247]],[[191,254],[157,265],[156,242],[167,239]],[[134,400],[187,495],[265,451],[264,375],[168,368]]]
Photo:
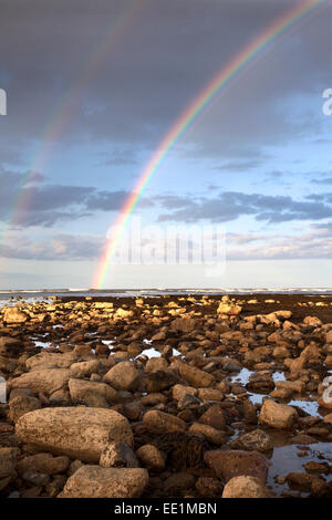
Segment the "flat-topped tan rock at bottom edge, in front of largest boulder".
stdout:
[[143,468],[83,466],[66,481],[59,498],[137,498],[148,483]]

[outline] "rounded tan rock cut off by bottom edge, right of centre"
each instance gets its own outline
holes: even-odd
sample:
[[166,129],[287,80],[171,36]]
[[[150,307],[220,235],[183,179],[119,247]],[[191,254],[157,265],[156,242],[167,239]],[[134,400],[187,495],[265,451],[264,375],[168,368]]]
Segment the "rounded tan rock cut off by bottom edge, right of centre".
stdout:
[[256,477],[231,478],[225,486],[222,498],[272,498],[273,493]]

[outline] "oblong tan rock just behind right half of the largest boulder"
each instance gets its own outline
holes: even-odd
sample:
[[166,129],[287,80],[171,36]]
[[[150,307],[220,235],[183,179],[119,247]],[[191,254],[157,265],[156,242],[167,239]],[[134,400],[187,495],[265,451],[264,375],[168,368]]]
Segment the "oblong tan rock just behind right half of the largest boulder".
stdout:
[[73,402],[84,403],[95,408],[108,408],[110,404],[117,398],[117,392],[106,383],[70,379],[69,391]]

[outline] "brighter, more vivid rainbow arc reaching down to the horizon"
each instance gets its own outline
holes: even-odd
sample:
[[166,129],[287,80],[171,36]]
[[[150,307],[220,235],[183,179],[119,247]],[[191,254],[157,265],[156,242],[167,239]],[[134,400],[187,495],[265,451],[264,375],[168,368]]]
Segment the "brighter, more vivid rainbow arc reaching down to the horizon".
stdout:
[[326,3],[326,0],[305,0],[298,3],[291,10],[288,10],[272,24],[266,28],[258,37],[256,37],[239,54],[237,54],[218,74],[208,83],[208,85],[198,94],[198,96],[181,113],[170,131],[165,135],[158,145],[156,152],[141,173],[138,180],[123,205],[120,215],[113,227],[113,236],[107,240],[106,246],[100,257],[97,269],[94,274],[92,288],[102,289],[108,274],[111,261],[115,254],[118,242],[122,239],[125,227],[135,210],[143,191],[146,189],[152,178],[156,174],[158,167],[164,162],[168,152],[174,147],[175,143],[189,128],[199,114],[215,98],[220,90],[243,69],[251,60],[280,37],[284,31],[290,29],[302,17],[309,14],[319,6]]

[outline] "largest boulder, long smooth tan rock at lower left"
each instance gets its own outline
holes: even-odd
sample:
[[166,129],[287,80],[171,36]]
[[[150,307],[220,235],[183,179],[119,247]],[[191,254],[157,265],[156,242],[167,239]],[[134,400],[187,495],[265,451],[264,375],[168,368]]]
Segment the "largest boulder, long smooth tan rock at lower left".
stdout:
[[17,423],[24,441],[53,454],[85,462],[98,462],[103,449],[113,440],[133,445],[128,420],[105,408],[44,408],[24,414]]

